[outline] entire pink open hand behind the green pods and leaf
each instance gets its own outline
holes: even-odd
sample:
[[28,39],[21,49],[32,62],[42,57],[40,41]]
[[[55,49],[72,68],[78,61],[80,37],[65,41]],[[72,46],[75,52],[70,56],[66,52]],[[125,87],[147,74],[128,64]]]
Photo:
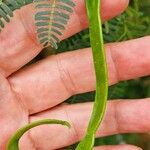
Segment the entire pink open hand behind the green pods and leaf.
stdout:
[[[71,16],[63,39],[87,27],[87,22],[83,23],[83,19],[86,19],[84,1],[76,2],[76,11]],[[127,4],[126,0],[103,1],[103,20],[121,13]],[[111,12],[108,11],[110,8]],[[92,103],[63,103],[73,94],[95,89],[90,48],[50,56],[20,69],[42,49],[35,38],[33,12],[32,5],[17,11],[15,18],[0,34],[0,149],[3,150],[6,149],[10,136],[18,128],[44,118],[67,120],[72,128],[68,130],[55,125],[37,127],[22,138],[20,149],[63,149],[64,146],[83,138],[92,111]],[[150,37],[144,37],[106,45],[110,85],[150,75],[149,40]],[[97,137],[116,133],[149,132],[149,100],[150,98],[109,102]],[[101,149],[139,148],[131,145],[96,148]]]

